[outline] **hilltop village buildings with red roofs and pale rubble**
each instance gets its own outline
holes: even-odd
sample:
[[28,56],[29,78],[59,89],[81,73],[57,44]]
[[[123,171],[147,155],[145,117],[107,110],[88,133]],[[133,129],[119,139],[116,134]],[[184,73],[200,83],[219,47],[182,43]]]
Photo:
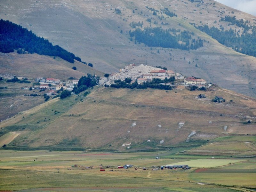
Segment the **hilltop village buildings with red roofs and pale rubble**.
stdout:
[[[182,84],[185,86],[196,85],[198,87],[202,87],[207,84],[207,82],[204,79],[195,78],[195,77],[185,78],[180,73],[175,73],[172,70],[148,69],[146,71],[137,70],[136,72],[131,73],[130,71],[133,68],[136,68],[136,65],[134,63],[126,65],[123,69],[120,69],[120,72],[118,73],[111,73],[108,77],[100,77],[99,85],[104,85],[106,83],[109,83],[109,84],[114,83],[115,80],[121,79],[121,75],[125,73],[127,74],[127,76],[129,76],[130,74],[131,78],[133,77],[131,84],[134,83],[136,80],[138,84],[143,84],[143,83],[152,81],[153,78],[164,80],[165,78],[170,78],[170,77],[174,77],[176,80],[184,79],[184,82]],[[133,76],[134,74],[137,76],[134,77]]]

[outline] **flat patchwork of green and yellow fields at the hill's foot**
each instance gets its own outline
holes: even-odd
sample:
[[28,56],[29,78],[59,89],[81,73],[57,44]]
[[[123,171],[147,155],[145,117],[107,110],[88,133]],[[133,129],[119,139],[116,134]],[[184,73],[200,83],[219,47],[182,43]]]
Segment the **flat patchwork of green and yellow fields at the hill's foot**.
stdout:
[[[148,191],[235,192],[250,191],[245,187],[256,188],[255,158],[200,159],[191,156],[191,159],[184,159],[180,156],[182,159],[155,159],[155,156],[161,156],[162,152],[87,153],[11,150],[0,152],[0,190],[144,191],[147,189]],[[136,156],[152,156],[152,158],[133,159]],[[152,171],[153,165],[157,167],[170,163],[179,164],[184,160],[187,160],[186,163],[192,167],[190,170]],[[197,163],[193,163],[194,161]],[[204,164],[208,161],[211,161],[212,166],[217,167],[205,168]],[[74,164],[78,166],[74,167]],[[101,164],[105,172],[100,171]],[[133,164],[138,169],[135,170],[133,167],[117,169],[118,165],[124,164]],[[92,166],[93,169],[86,169],[83,166]],[[236,166],[238,168],[234,169]],[[147,170],[143,170],[143,167],[147,167]],[[253,169],[254,171],[251,171]],[[241,190],[242,188],[244,189]]]

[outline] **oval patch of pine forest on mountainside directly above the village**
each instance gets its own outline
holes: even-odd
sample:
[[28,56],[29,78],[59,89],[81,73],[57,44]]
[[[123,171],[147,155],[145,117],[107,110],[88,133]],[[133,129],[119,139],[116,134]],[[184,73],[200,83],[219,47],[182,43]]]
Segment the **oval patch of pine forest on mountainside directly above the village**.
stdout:
[[[174,35],[171,35],[169,31],[172,31]],[[135,43],[144,43],[149,47],[190,50],[203,46],[202,39],[192,39],[193,33],[182,31],[180,34],[176,34],[176,32],[180,31],[171,28],[164,30],[160,27],[146,27],[144,30],[140,28],[136,28],[134,31],[130,30],[129,34],[131,38],[135,36]],[[180,44],[179,41],[182,41],[183,44]]]

